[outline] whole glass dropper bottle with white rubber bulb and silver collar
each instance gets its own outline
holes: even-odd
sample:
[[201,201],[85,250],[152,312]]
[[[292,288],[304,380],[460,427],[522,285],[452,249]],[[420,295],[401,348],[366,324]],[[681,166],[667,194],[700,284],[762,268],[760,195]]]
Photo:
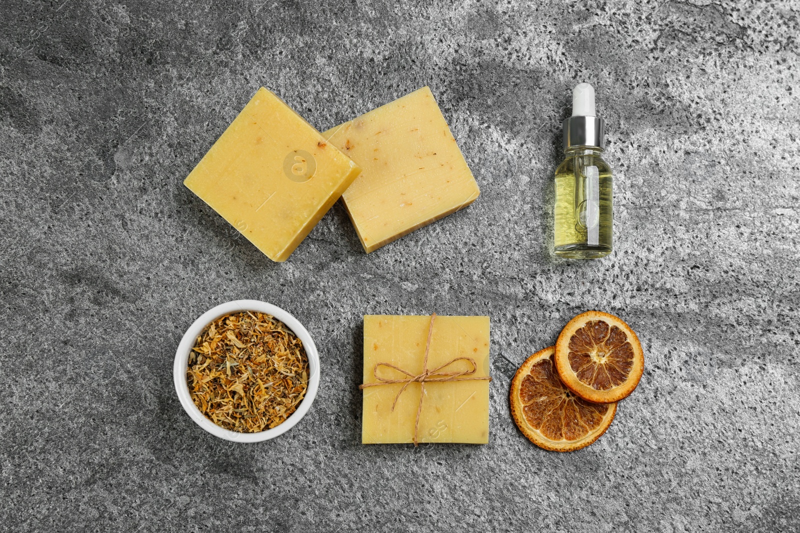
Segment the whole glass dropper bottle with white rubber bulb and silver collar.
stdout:
[[611,253],[611,169],[602,159],[606,122],[594,112],[594,88],[572,91],[564,129],[564,161],[555,171],[555,254],[596,259]]

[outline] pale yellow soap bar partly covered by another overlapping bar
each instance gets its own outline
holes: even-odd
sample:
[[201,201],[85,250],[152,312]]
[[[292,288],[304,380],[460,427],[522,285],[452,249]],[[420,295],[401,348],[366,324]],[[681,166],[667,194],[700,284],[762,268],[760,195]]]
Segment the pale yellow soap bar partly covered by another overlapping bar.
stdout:
[[342,201],[367,253],[470,205],[480,193],[427,87],[324,135],[362,168]]

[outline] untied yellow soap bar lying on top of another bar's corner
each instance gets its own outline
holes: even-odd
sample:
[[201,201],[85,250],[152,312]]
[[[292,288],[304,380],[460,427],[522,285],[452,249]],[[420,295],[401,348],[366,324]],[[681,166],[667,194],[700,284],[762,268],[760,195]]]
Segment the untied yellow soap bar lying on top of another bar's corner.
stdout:
[[273,261],[286,261],[360,169],[258,89],[183,182]]

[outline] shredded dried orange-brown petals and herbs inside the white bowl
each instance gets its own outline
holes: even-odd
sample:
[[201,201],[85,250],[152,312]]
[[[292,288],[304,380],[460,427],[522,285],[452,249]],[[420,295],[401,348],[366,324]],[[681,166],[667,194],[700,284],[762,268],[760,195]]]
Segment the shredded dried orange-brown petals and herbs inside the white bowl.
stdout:
[[235,312],[202,330],[186,382],[194,404],[214,424],[262,432],[289,418],[306,396],[308,356],[274,316]]

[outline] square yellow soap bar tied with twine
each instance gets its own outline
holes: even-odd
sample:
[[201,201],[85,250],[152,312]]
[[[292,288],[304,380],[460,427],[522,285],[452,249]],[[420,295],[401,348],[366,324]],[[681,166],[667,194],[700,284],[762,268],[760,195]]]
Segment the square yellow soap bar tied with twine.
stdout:
[[[364,381],[378,383],[375,364],[394,364],[413,376],[422,373],[422,362],[430,327],[430,316],[364,316]],[[474,360],[477,372],[489,376],[489,317],[436,316],[428,355],[429,371],[456,357]],[[459,360],[442,372],[470,370]],[[410,376],[384,366],[378,376],[390,380]],[[398,398],[403,384],[382,384],[363,389],[362,443],[410,443],[414,440],[422,386],[411,383]],[[426,382],[425,398],[419,417],[418,442],[471,443],[489,442],[489,381]]]

